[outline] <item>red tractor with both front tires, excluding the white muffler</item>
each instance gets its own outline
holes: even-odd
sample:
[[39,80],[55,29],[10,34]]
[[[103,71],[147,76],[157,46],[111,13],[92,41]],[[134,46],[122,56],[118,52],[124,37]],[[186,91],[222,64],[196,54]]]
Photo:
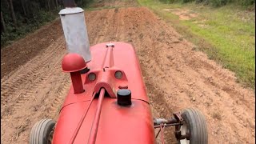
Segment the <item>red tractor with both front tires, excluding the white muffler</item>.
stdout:
[[[30,132],[30,144],[153,144],[174,126],[178,143],[208,143],[206,120],[195,109],[173,118],[152,118],[134,47],[124,42],[90,47],[92,59],[67,54],[62,70],[72,85],[58,121],[43,119]],[[84,70],[84,74],[81,74]],[[161,95],[155,95],[161,97]],[[159,129],[155,134],[154,129]]]

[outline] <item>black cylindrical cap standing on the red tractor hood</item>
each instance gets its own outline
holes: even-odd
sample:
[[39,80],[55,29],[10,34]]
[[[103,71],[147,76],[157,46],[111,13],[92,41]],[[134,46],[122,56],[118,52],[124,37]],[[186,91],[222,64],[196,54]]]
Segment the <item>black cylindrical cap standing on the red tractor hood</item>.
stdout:
[[130,106],[131,105],[131,92],[128,89],[118,90],[118,105]]

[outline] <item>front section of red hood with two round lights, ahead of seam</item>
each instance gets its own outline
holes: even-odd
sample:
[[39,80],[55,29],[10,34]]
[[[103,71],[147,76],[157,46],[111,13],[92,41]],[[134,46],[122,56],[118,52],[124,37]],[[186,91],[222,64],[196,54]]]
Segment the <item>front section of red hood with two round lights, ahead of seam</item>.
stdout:
[[[90,101],[93,93],[98,93],[101,87],[106,89],[110,98],[117,98],[117,90],[128,88],[131,90],[132,99],[149,103],[134,47],[124,42],[113,42],[113,44],[114,46],[106,46],[108,43],[101,43],[90,47],[93,55],[91,62],[87,63],[90,71],[81,75],[85,92],[74,94],[71,86],[62,107]],[[116,72],[121,72],[122,78],[115,78]],[[95,79],[91,81],[91,77]]]

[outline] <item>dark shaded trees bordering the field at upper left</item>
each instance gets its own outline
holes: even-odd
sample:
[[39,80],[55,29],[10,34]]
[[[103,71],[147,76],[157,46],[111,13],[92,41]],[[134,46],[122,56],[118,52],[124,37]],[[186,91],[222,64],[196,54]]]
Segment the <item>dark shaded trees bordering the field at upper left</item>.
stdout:
[[[90,0],[75,0],[83,7]],[[63,0],[1,0],[1,47],[58,17]]]

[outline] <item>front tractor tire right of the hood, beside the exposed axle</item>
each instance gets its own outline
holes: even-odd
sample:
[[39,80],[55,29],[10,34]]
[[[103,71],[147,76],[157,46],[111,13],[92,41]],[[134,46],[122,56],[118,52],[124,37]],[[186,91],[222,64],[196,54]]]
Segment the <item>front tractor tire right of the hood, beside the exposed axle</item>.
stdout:
[[185,121],[180,127],[182,134],[189,134],[189,140],[178,140],[179,144],[207,144],[208,133],[206,119],[199,110],[188,108],[182,111],[182,118]]

